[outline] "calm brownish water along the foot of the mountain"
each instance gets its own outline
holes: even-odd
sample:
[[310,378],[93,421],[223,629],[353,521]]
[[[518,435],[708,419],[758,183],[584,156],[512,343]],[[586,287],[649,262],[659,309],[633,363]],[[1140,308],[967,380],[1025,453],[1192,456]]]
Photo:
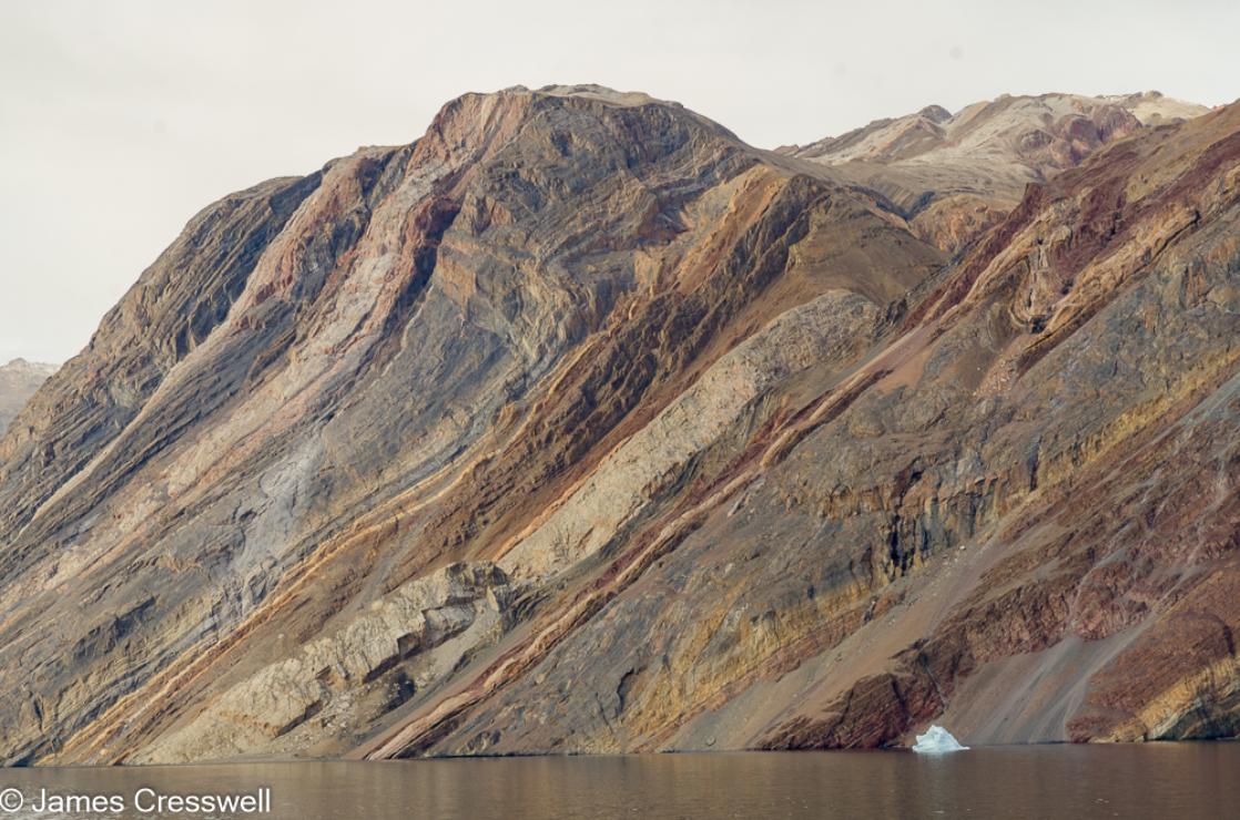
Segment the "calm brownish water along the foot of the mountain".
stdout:
[[27,803],[0,818],[153,816],[133,810],[143,787],[181,795],[268,787],[272,813],[254,816],[295,820],[1240,818],[1240,744],[14,769],[0,772],[0,792],[120,795],[130,808],[64,815]]

